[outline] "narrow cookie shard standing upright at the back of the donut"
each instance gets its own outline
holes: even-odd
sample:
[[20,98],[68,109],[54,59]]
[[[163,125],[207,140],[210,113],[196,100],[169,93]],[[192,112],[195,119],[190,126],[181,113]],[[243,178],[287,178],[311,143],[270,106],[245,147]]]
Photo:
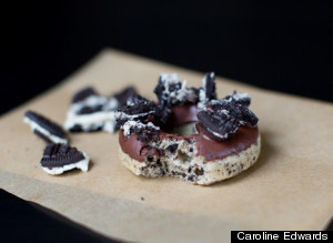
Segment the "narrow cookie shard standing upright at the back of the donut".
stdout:
[[199,89],[198,107],[204,108],[209,101],[215,100],[216,97],[215,73],[205,73],[204,78],[202,79],[202,88]]

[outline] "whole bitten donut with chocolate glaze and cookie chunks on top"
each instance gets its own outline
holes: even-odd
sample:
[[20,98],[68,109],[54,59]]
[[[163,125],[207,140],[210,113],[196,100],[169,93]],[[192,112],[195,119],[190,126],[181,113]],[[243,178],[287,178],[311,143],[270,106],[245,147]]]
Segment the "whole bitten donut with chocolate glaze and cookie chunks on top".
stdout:
[[134,174],[209,185],[256,162],[259,119],[249,109],[248,93],[234,91],[218,100],[213,72],[199,89],[186,88],[175,73],[163,73],[154,93],[158,102],[137,94],[114,114],[120,158]]

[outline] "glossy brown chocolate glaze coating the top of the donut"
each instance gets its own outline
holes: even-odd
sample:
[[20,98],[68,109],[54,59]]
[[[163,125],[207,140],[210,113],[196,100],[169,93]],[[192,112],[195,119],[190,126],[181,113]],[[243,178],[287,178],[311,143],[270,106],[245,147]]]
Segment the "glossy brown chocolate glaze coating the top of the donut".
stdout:
[[[196,122],[196,113],[200,109],[195,104],[185,104],[174,107],[171,112],[168,124],[180,125],[188,122]],[[170,126],[170,125],[168,125]],[[231,134],[229,139],[222,142],[212,140],[199,124],[195,125],[198,134],[186,136],[173,135],[161,131],[160,140],[186,140],[195,143],[198,153],[196,155],[204,156],[205,161],[222,160],[230,155],[239,154],[241,151],[246,150],[252,144],[256,143],[259,131],[258,128],[240,126],[239,130]],[[162,156],[163,154],[157,148],[148,146],[138,140],[137,134],[131,134],[124,138],[123,131],[119,132],[119,143],[122,151],[129,154],[132,159],[143,162],[147,155]]]

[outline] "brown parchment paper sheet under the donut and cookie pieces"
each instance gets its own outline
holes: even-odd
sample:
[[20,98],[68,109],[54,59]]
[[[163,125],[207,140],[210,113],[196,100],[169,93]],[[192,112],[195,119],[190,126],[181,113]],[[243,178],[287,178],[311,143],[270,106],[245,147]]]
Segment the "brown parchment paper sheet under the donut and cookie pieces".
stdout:
[[[23,124],[27,109],[63,123],[75,91],[109,95],[128,84],[154,99],[161,72],[191,85],[203,73],[104,50],[54,89],[0,119],[0,186],[104,235],[139,242],[222,242],[231,230],[322,230],[333,212],[333,105],[218,78],[222,98],[249,92],[262,152],[254,166],[212,186],[135,176],[121,165],[118,135],[70,134],[90,154],[90,170],[59,176],[39,164],[44,143]],[[281,80],[283,82],[283,80]],[[314,80],[315,82],[315,80]]]

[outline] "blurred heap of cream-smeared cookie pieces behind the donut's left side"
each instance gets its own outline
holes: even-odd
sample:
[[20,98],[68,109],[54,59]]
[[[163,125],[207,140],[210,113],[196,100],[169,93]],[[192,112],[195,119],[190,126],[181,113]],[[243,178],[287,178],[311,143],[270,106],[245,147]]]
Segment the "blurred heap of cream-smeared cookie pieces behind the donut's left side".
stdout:
[[135,93],[135,89],[129,87],[107,98],[91,87],[84,88],[74,94],[64,128],[71,132],[115,132],[114,112]]

